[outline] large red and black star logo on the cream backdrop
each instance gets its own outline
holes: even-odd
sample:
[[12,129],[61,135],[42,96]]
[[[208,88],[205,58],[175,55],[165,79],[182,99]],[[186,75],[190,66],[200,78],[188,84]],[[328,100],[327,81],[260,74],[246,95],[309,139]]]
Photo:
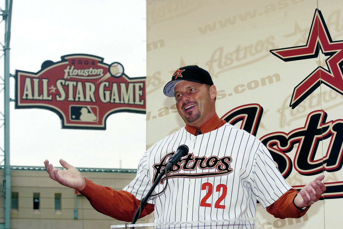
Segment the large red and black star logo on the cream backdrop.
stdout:
[[306,45],[270,50],[283,61],[317,58],[319,51],[328,56],[327,69],[319,66],[294,88],[289,104],[293,109],[322,83],[343,95],[343,41],[332,41],[323,15],[316,9]]

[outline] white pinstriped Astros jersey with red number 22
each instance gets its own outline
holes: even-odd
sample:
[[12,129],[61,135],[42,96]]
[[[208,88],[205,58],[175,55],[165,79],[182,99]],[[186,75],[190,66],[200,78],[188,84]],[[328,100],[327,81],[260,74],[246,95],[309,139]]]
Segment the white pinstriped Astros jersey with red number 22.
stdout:
[[[274,203],[291,188],[269,151],[254,136],[228,123],[194,136],[185,127],[157,142],[140,160],[123,190],[142,199],[179,145],[189,153],[168,173],[166,190],[151,197],[155,222],[255,217],[256,201]],[[153,194],[163,190],[159,182]]]

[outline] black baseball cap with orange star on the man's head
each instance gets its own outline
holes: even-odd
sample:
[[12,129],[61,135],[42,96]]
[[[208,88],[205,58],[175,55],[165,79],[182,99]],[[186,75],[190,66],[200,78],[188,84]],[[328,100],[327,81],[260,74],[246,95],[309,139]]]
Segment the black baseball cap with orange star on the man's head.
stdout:
[[164,86],[164,94],[168,97],[174,97],[175,85],[184,80],[213,85],[212,78],[208,71],[198,67],[197,65],[189,65],[178,68],[174,72],[173,76],[171,77],[171,81]]

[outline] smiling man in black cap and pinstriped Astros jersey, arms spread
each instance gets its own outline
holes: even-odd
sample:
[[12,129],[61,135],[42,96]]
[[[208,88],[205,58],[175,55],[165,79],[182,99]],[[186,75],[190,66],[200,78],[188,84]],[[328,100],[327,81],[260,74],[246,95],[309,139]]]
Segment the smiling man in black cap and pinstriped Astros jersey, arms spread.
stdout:
[[[60,163],[68,170],[56,169],[46,160],[47,172],[79,190],[96,210],[131,221],[165,162],[185,144],[189,153],[168,173],[164,192],[148,199],[141,217],[155,210],[155,222],[249,218],[255,217],[257,201],[275,217],[303,216],[326,190],[324,176],[297,195],[256,137],[218,118],[216,93],[211,76],[198,66],[182,67],[173,74],[164,94],[175,97],[186,126],[144,153],[137,176],[122,191],[94,184],[64,160]],[[162,191],[165,183],[159,182],[154,193]]]

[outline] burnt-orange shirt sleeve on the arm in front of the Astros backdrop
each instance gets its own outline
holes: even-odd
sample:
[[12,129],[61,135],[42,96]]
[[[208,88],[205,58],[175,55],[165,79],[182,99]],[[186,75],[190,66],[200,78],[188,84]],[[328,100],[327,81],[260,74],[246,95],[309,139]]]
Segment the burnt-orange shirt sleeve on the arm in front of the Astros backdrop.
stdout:
[[300,218],[305,215],[307,210],[299,210],[294,205],[294,198],[297,195],[298,191],[294,188],[285,192],[279,199],[277,199],[273,204],[269,205],[266,209],[272,214],[275,218]]

